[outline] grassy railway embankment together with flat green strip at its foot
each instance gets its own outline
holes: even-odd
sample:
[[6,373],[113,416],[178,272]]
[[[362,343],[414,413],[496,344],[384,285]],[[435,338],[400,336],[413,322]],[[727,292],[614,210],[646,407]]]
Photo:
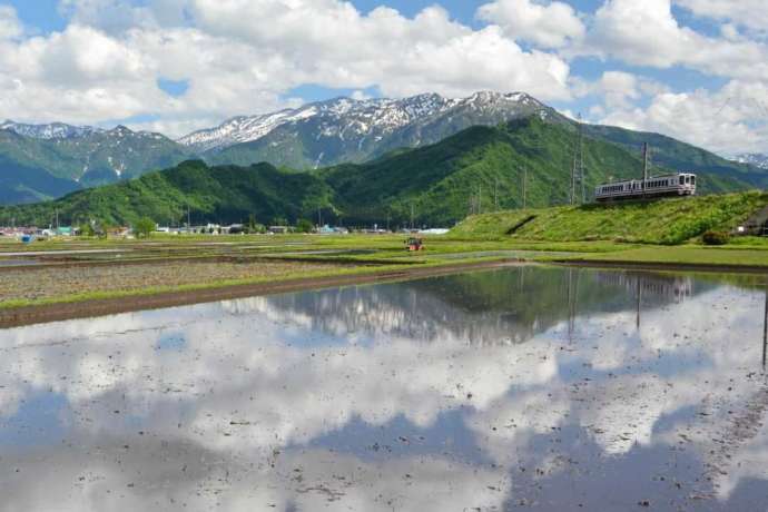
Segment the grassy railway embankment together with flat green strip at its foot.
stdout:
[[768,193],[749,191],[648,203],[567,206],[473,216],[451,232],[460,240],[509,244],[598,244],[601,254],[568,258],[628,264],[768,268],[768,240],[735,237],[722,247],[705,247],[707,230],[730,232],[768,205]]

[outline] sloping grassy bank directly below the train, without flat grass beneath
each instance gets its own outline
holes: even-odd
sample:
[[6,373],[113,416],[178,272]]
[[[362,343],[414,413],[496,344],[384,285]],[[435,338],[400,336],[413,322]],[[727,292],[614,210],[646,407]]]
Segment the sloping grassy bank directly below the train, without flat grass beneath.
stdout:
[[469,217],[451,230],[461,238],[620,240],[681,244],[709,229],[730,230],[768,204],[768,193],[564,206]]

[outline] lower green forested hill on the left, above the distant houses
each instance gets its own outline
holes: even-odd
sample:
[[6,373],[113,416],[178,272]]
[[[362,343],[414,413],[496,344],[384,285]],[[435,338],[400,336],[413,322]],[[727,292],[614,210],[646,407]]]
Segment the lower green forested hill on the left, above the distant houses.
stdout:
[[[55,201],[0,208],[0,224],[47,225],[56,210],[62,223],[100,219],[129,224],[148,216],[161,224],[296,219],[331,205],[332,193],[309,174],[287,174],[269,164],[208,167],[189,160],[129,181],[70,194]],[[3,218],[4,217],[4,218]]]

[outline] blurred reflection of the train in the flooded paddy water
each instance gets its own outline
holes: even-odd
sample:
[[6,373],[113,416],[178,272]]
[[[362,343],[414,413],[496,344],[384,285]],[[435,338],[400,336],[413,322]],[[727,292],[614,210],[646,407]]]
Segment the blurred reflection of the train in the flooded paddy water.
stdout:
[[680,303],[693,295],[693,279],[688,276],[667,276],[632,272],[598,272],[594,279],[603,285],[624,288],[637,295],[638,288],[646,297],[656,297]]

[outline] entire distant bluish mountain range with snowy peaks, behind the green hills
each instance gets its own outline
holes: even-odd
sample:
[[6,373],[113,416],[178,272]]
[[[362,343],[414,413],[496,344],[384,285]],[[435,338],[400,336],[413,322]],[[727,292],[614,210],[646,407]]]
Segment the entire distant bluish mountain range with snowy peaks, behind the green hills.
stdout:
[[[0,204],[56,198],[190,158],[214,166],[247,167],[265,161],[297,171],[364,164],[404,148],[434,145],[470,127],[495,127],[531,116],[575,132],[574,121],[522,92],[477,92],[462,99],[434,93],[397,100],[336,98],[269,115],[236,117],[178,140],[122,126],[107,130],[6,121],[0,124]],[[718,181],[712,188],[768,186],[767,169],[751,160],[730,161],[658,134],[583,127],[587,137],[619,145],[634,155],[649,141],[656,165],[702,173]],[[610,176],[621,174],[614,169]]]

